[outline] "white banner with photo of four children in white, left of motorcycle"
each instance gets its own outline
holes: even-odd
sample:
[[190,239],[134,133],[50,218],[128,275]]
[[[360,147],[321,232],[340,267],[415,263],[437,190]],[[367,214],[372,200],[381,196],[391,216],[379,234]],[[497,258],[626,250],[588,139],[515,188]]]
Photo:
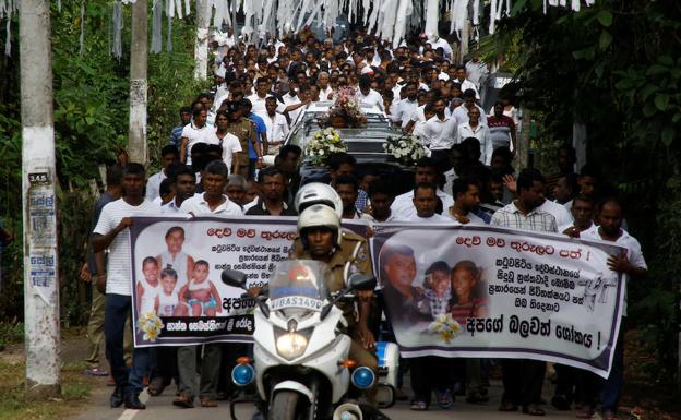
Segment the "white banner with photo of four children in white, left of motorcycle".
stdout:
[[[130,227],[135,347],[252,341],[255,302],[223,269],[267,284],[288,257],[297,217],[134,217]],[[344,220],[366,236],[367,224]]]

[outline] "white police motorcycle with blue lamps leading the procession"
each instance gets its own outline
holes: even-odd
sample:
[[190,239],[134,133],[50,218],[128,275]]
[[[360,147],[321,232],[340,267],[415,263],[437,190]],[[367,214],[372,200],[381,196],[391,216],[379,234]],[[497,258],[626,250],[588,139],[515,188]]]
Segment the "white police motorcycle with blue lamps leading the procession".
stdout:
[[[392,343],[377,344],[379,377],[348,357],[351,339],[344,334],[347,322],[336,305],[356,290],[373,290],[375,278],[349,277],[345,290],[332,296],[326,287],[326,264],[290,260],[272,274],[266,295],[252,297],[253,360],[241,357],[231,371],[240,387],[255,384],[260,409],[267,420],[367,420],[385,418],[368,405],[348,398],[378,386],[382,408],[395,400],[398,350]],[[222,279],[247,289],[241,272],[224,271]],[[234,420],[235,408],[230,407]]]

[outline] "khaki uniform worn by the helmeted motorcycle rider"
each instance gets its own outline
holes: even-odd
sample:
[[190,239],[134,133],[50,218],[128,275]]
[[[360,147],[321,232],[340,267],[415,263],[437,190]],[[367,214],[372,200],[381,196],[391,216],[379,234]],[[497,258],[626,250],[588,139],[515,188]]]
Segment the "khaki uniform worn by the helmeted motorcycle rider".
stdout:
[[[312,260],[310,253],[302,248],[299,237],[294,241],[289,256],[298,260]],[[328,262],[328,269],[331,271],[328,288],[332,292],[343,290],[346,286],[346,280],[351,274],[362,273],[372,275],[373,269],[367,240],[357,233],[344,230],[340,249],[333,253]],[[361,344],[355,304],[339,304],[339,308],[343,309],[345,319],[348,322],[348,335],[353,338],[349,352],[350,359],[355,360],[358,367],[363,365],[373,370],[378,381],[379,367],[377,357],[365,349]],[[367,398],[370,403],[375,398],[375,386],[367,393]]]

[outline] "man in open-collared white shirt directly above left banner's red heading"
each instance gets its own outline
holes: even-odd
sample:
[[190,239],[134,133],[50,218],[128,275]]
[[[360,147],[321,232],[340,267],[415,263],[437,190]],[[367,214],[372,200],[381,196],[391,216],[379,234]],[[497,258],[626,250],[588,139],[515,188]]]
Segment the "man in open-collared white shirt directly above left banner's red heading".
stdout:
[[241,216],[243,212],[238,204],[223,194],[227,185],[229,171],[227,165],[220,160],[213,160],[206,165],[201,178],[203,194],[198,194],[186,200],[180,206],[180,213],[199,215]]

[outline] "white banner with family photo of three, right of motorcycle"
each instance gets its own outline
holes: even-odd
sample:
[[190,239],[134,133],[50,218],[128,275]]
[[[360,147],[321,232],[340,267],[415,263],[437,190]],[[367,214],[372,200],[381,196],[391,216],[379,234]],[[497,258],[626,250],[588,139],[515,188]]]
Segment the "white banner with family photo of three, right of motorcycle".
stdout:
[[624,248],[488,226],[374,226],[374,271],[404,357],[537,359],[607,377]]

